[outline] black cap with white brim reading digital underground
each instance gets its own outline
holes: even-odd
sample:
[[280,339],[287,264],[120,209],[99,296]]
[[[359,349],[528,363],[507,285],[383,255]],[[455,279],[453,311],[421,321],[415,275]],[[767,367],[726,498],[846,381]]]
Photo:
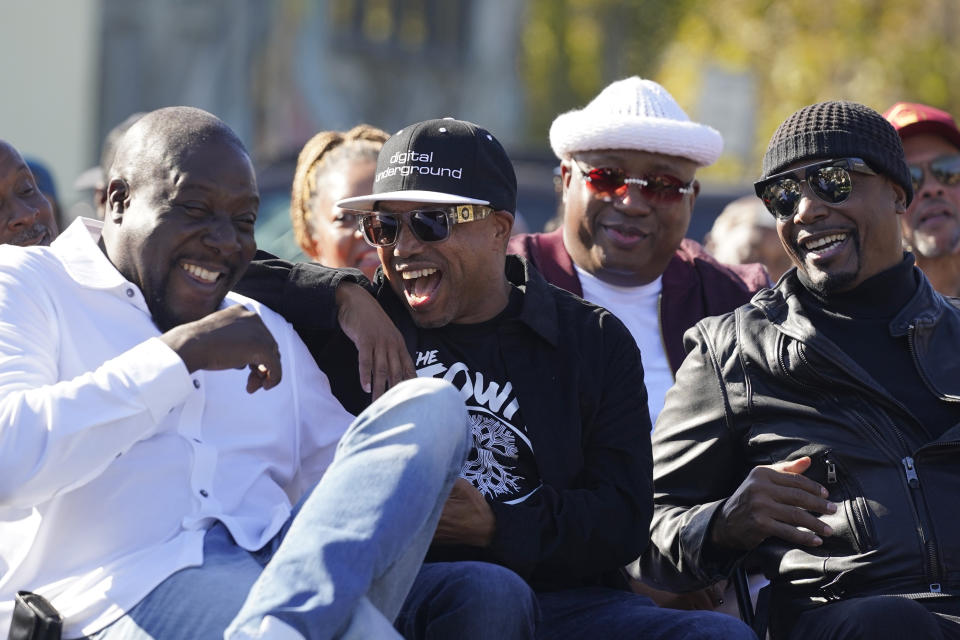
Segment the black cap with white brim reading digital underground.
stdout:
[[380,150],[373,193],[346,198],[338,207],[370,211],[377,202],[483,204],[517,210],[517,176],[493,135],[453,118],[404,127]]

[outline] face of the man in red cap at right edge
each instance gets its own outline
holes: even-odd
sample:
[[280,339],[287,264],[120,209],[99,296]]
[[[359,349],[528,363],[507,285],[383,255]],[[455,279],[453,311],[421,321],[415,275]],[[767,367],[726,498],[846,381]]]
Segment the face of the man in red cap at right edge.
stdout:
[[940,136],[919,134],[903,140],[907,164],[923,168],[923,185],[901,219],[903,239],[919,258],[940,258],[960,253],[960,184],[941,184],[930,173],[929,163],[942,156],[960,154]]

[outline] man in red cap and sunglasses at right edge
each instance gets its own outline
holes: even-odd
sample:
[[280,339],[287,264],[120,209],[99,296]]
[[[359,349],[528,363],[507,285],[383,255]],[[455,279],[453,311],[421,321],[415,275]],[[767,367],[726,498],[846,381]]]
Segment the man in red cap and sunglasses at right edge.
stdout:
[[940,293],[960,295],[960,130],[940,109],[898,102],[883,114],[903,141],[913,203],[900,219],[917,266]]

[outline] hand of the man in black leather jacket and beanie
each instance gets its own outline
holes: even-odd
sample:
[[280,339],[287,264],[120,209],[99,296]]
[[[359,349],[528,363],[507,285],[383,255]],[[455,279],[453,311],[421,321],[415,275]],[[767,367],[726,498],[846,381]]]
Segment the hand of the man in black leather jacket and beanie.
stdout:
[[[827,490],[801,475],[810,457],[754,467],[714,520],[711,541],[719,547],[750,550],[770,536],[818,547],[833,530],[808,513],[835,513]],[[800,529],[804,527],[809,531]]]

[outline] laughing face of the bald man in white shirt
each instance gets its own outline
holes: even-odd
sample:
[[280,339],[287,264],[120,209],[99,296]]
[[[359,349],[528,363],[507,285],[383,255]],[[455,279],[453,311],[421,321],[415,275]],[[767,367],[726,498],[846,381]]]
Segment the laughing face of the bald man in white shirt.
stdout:
[[161,331],[215,311],[256,252],[259,194],[246,152],[214,133],[110,180],[107,256]]

